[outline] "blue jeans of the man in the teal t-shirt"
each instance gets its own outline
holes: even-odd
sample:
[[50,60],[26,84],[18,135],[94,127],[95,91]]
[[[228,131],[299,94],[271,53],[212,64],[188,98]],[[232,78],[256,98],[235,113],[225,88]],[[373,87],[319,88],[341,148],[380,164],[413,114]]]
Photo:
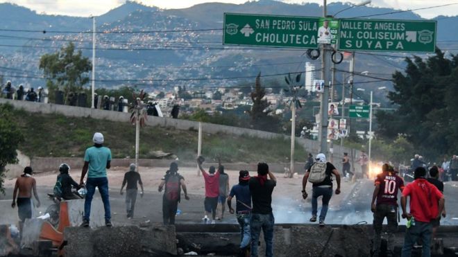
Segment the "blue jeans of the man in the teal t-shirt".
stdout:
[[105,220],[111,219],[110,199],[108,197],[108,178],[107,177],[88,177],[86,181],[86,199],[84,202],[83,219],[89,221],[91,215],[92,197],[95,193],[95,188],[99,188],[102,197],[103,208],[105,209]]

